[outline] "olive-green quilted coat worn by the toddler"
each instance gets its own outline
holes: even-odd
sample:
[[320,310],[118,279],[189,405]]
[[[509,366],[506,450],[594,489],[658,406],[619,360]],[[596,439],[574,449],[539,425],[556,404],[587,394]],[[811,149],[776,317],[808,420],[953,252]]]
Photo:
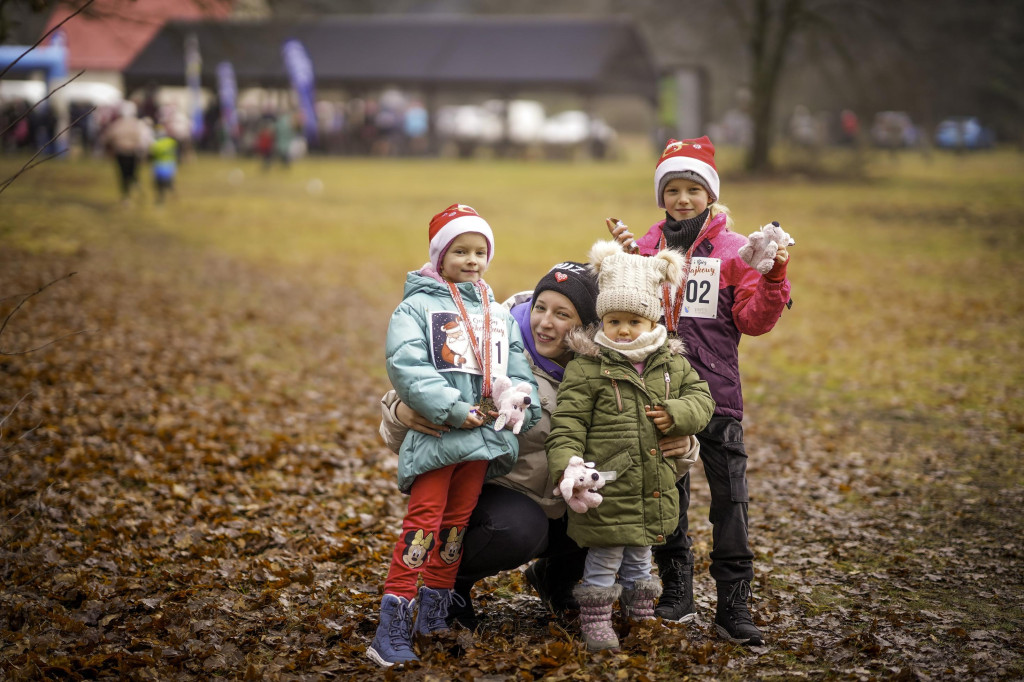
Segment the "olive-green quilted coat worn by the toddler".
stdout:
[[[546,445],[552,485],[573,455],[598,471],[615,472],[604,501],[584,514],[569,511],[568,534],[581,547],[660,545],[679,524],[676,468],[657,445],[663,435],[700,431],[715,401],[670,340],[647,358],[643,375],[622,353],[573,333],[577,357],[565,368]],[[675,424],[662,434],[644,412],[664,406]]]

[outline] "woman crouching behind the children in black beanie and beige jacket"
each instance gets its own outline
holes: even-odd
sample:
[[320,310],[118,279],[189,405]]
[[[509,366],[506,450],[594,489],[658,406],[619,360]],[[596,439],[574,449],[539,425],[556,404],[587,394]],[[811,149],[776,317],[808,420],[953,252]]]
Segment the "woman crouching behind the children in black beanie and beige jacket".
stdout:
[[[541,421],[519,437],[519,459],[507,475],[484,484],[469,519],[463,557],[455,583],[450,622],[475,628],[470,593],[484,578],[511,570],[537,558],[526,579],[554,613],[574,609],[572,588],[583,577],[587,551],[566,535],[564,501],[549,482],[544,441],[551,431],[558,385],[573,353],[566,336],[581,327],[598,324],[597,281],[583,263],[556,264],[532,292],[505,302],[522,332],[541,395]],[[382,399],[381,435],[397,452],[409,429],[434,436],[447,430],[431,424],[400,402],[394,391]],[[670,454],[695,458],[694,442],[686,437],[664,438],[659,446]]]

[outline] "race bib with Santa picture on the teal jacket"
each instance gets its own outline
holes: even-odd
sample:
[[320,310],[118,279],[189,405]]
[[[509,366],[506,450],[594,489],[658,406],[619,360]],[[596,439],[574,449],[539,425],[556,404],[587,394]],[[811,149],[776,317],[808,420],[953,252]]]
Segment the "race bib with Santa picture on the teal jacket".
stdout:
[[[483,315],[470,314],[469,321],[473,325],[477,341],[482,341]],[[469,334],[466,333],[466,324],[458,312],[430,313],[430,357],[438,372],[483,374],[473,353]],[[508,376],[508,328],[501,313],[494,309],[490,312],[490,369],[493,376]]]

